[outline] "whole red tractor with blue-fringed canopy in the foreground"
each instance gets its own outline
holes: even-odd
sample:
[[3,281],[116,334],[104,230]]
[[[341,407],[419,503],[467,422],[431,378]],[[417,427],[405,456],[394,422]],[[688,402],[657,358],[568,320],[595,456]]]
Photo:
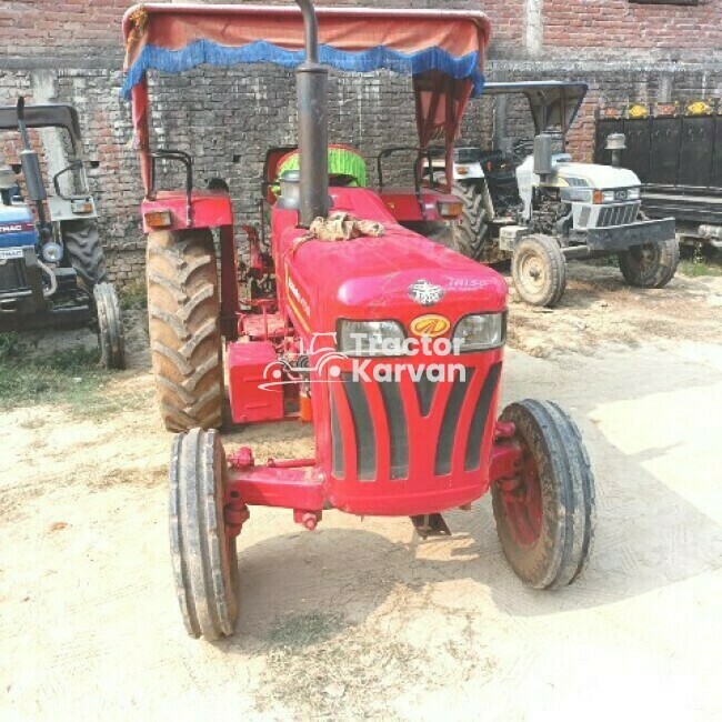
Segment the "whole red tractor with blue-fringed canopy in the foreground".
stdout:
[[[451,154],[465,101],[483,84],[488,20],[317,16],[311,0],[298,4],[301,13],[147,4],[124,20],[153,370],[166,425],[181,432],[170,464],[173,569],[188,632],[211,640],[234,629],[235,544],[253,505],[290,509],[309,530],[330,509],[410,517],[427,537],[449,533],[442,512],[491,491],[504,553],[539,589],[573,582],[593,538],[594,480],[574,423],[543,401],[498,415],[504,280],[401,227],[375,192],[329,183],[325,66],[411,74],[421,146],[441,131]],[[239,292],[229,193],[222,183],[193,190],[185,153],[150,152],[146,72],[244,61],[297,68],[301,162],[280,178],[270,249],[248,229]],[[158,158],[185,166],[184,191],[156,190]],[[313,458],[259,463],[248,448],[225,455],[214,430],[223,358],[233,421],[312,421]]]

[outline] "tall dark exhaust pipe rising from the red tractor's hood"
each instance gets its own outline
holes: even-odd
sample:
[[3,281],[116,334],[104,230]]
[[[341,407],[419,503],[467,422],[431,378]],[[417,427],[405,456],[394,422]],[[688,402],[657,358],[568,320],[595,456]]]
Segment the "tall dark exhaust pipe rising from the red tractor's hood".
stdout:
[[301,225],[329,213],[329,69],[319,63],[319,23],[312,0],[295,0],[303,13],[305,62],[295,71],[301,164]]

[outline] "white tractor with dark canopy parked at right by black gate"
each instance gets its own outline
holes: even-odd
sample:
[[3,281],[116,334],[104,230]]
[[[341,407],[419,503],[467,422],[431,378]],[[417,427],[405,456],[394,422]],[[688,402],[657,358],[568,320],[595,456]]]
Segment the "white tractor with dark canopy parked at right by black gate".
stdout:
[[[674,219],[642,214],[639,178],[613,166],[575,163],[565,152],[586,89],[581,82],[488,83],[482,98],[528,99],[534,137],[503,138],[489,150],[455,149],[454,193],[464,208],[452,247],[487,263],[511,259],[514,287],[532,305],[560,301],[569,259],[615,254],[626,282],[641,288],[662,288],[676,272]],[[610,150],[614,142],[623,148],[623,140],[611,137]]]

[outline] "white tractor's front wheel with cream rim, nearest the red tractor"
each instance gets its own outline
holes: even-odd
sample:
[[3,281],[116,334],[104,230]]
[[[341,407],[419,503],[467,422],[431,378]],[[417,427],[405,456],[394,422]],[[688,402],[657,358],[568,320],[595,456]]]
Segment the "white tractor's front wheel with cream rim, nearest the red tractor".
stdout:
[[511,278],[530,305],[556,305],[566,288],[566,261],[559,243],[549,235],[523,238],[511,258]]

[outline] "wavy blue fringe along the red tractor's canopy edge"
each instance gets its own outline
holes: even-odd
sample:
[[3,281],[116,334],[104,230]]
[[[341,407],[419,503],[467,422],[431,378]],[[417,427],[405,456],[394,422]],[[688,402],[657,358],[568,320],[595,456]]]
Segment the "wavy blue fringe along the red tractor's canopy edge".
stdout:
[[[378,46],[363,52],[347,52],[331,46],[321,46],[319,56],[322,63],[350,72],[371,72],[385,68],[403,74],[420,74],[428,70],[440,70],[452,78],[468,78],[474,83],[473,96],[481,94],[484,77],[479,71],[479,53],[457,58],[441,48],[427,48],[419,52],[404,54]],[[182,72],[201,64],[228,68],[239,63],[269,62],[282,68],[297,68],[305,58],[302,50],[291,51],[279,48],[265,40],[257,40],[241,48],[219,46],[210,40],[197,40],[182,50],[168,50],[146,46],[132,64],[121,96],[130,98],[130,91],[139,83],[143,73],[152,68],[164,72]]]

